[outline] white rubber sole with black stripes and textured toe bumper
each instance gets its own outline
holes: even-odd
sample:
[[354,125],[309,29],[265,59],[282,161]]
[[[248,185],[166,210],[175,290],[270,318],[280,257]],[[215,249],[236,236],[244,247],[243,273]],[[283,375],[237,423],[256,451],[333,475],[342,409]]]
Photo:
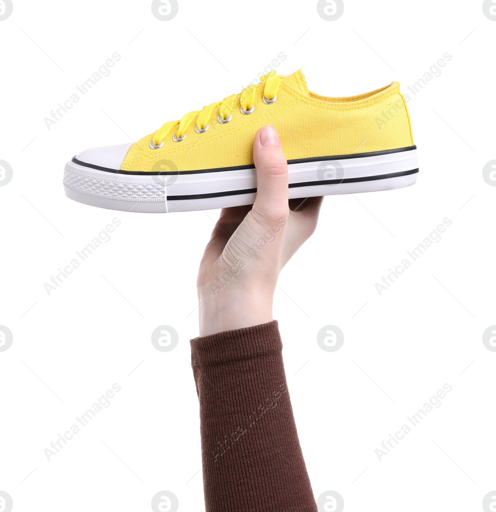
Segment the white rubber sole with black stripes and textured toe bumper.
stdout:
[[[254,168],[123,174],[67,162],[63,184],[74,201],[111,210],[167,213],[253,204]],[[289,161],[289,198],[392,190],[417,181],[416,146],[378,153]],[[127,173],[127,172],[125,172]]]

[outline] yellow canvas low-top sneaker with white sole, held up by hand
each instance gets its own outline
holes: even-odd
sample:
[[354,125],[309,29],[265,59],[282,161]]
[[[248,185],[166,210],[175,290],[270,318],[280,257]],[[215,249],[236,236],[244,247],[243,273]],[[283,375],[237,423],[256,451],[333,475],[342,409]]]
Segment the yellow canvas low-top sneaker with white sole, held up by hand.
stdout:
[[136,143],[83,151],[66,195],[113,210],[162,213],[252,204],[253,139],[272,124],[289,165],[289,198],[413,185],[417,147],[399,83],[347,98],[307,89],[301,71],[271,72],[241,94],[169,121]]

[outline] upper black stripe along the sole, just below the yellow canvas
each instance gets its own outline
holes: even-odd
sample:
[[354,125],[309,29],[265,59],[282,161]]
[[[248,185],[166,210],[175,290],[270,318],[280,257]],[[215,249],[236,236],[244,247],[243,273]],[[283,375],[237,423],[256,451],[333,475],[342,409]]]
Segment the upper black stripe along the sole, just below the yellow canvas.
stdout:
[[[312,158],[299,158],[296,160],[288,160],[288,164],[294,163],[308,163],[308,162],[321,162],[326,160],[348,160],[350,158],[365,158],[365,157],[376,157],[380,155],[390,155],[391,153],[403,153],[405,151],[413,151],[416,150],[417,146],[408,146],[408,147],[399,147],[395,150],[384,150],[384,151],[374,151],[372,153],[357,153],[355,155],[335,155],[329,157],[312,157]],[[73,157],[72,162],[77,163],[78,165],[82,165],[83,167],[90,167],[91,169],[104,170],[107,173],[114,174],[128,174],[132,176],[174,176],[180,174],[203,174],[203,173],[219,173],[224,172],[226,170],[243,170],[243,169],[254,169],[255,165],[238,165],[235,167],[218,167],[215,169],[199,169],[199,170],[167,170],[167,171],[159,171],[159,172],[148,172],[146,170],[119,170],[119,169],[110,169],[109,167],[101,167],[99,165],[94,165],[92,163],[81,162],[76,157]],[[173,163],[173,162],[171,162]]]

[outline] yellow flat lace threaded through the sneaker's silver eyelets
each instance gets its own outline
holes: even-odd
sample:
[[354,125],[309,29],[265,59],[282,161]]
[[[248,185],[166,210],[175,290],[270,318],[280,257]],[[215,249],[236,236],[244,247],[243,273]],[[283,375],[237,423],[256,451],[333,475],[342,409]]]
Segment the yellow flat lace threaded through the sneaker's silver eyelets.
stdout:
[[154,148],[161,147],[162,142],[169,135],[169,133],[176,126],[179,126],[174,134],[174,140],[179,142],[180,140],[184,140],[186,136],[186,130],[191,122],[197,118],[196,131],[198,133],[203,133],[208,130],[208,121],[210,120],[210,116],[212,115],[212,111],[216,109],[218,106],[219,109],[219,122],[227,123],[231,120],[231,114],[234,110],[234,102],[238,97],[240,97],[240,107],[241,111],[244,114],[251,114],[254,109],[254,101],[255,101],[255,91],[258,87],[264,88],[264,100],[266,103],[273,103],[276,99],[277,90],[279,89],[279,84],[282,81],[281,76],[277,76],[275,71],[271,71],[267,75],[264,75],[260,78],[261,83],[257,83],[256,86],[249,86],[243,90],[241,95],[232,94],[222,101],[218,101],[217,103],[210,103],[207,106],[204,106],[203,110],[196,110],[193,112],[189,112],[183,116],[180,121],[168,121],[166,122],[159,130],[157,130],[153,136],[152,141],[150,142],[150,147],[154,146]]

